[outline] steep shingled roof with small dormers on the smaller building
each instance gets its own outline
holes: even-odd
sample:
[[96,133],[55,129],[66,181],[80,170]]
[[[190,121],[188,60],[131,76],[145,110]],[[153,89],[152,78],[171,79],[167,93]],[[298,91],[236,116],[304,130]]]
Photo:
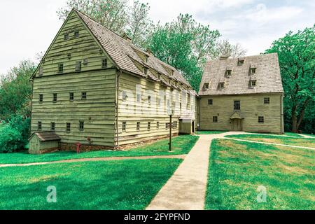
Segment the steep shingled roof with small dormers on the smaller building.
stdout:
[[[244,64],[238,65],[239,59],[228,58],[209,61],[204,69],[200,84],[200,95],[254,94],[283,92],[278,55],[276,53],[244,57]],[[255,75],[250,69],[255,67]],[[231,76],[225,76],[227,68]],[[249,85],[256,80],[256,86]],[[225,80],[225,87],[218,88],[218,83]],[[204,83],[210,83],[204,90]]]

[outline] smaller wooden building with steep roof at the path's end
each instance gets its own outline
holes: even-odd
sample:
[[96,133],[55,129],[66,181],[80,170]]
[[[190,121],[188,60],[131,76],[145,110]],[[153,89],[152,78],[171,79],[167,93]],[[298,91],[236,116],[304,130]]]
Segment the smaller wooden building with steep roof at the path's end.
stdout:
[[283,133],[276,53],[208,62],[199,95],[200,130]]

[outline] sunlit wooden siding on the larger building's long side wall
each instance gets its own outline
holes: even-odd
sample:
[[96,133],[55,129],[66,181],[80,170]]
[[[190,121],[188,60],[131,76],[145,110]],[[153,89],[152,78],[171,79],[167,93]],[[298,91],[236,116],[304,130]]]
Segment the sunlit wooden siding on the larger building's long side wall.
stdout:
[[[166,123],[169,123],[167,115],[167,100],[175,102],[175,113],[172,122],[177,122],[172,132],[179,134],[179,118],[184,111],[184,103],[180,109],[180,103],[183,102],[182,94],[179,90],[170,92],[170,87],[153,82],[146,78],[132,76],[127,73],[121,73],[119,76],[118,88],[118,141],[119,145],[134,144],[139,141],[158,139],[169,134]],[[138,87],[137,87],[138,86]],[[127,99],[123,99],[123,91],[127,94]],[[167,92],[166,96],[160,93]],[[137,102],[137,93],[141,93],[141,102]],[[171,100],[172,94],[172,100]],[[148,96],[151,96],[151,104],[148,103]],[[160,99],[160,106],[158,106]],[[190,104],[195,105],[195,97],[190,97]],[[186,99],[185,99],[186,100]],[[195,112],[195,106],[193,111]],[[126,122],[126,130],[123,131],[123,122]],[[137,123],[140,122],[140,130],[137,131]],[[151,129],[148,130],[148,123],[151,123]],[[159,122],[159,128],[157,123]]]

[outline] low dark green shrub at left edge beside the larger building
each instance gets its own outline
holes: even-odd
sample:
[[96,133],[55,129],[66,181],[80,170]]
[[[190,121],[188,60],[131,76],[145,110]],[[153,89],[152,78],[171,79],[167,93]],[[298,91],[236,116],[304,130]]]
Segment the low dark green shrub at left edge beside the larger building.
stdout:
[[25,149],[29,136],[29,118],[13,116],[0,129],[0,153],[12,153]]

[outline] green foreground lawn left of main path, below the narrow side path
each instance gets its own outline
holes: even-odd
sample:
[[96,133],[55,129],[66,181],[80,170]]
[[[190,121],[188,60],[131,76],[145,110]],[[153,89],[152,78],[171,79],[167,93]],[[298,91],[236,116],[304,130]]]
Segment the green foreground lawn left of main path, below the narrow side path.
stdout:
[[[0,209],[145,209],[182,160],[117,160],[0,169]],[[57,202],[48,203],[48,186]]]

